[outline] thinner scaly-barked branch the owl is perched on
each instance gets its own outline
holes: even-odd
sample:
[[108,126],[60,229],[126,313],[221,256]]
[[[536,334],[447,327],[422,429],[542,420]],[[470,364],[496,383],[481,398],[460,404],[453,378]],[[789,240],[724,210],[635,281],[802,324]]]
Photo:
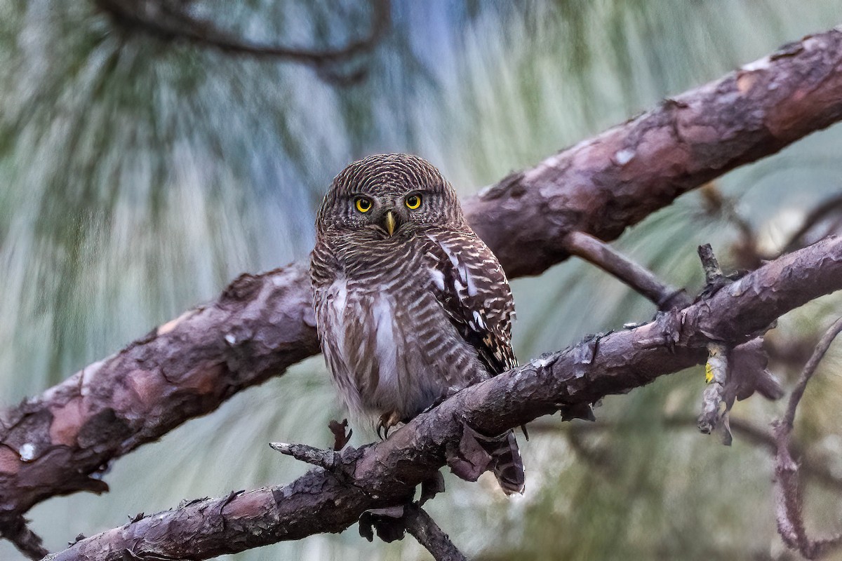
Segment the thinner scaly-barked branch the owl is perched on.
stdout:
[[[88,537],[52,561],[110,561],[124,552],[210,558],[318,532],[341,532],[372,508],[405,504],[458,453],[466,430],[503,431],[557,410],[626,393],[704,362],[706,345],[736,346],[778,316],[842,289],[842,239],[770,262],[684,310],[542,357],[453,395],[385,442],[346,449],[339,463],[283,487],[197,500]],[[470,428],[467,428],[470,427]]]

